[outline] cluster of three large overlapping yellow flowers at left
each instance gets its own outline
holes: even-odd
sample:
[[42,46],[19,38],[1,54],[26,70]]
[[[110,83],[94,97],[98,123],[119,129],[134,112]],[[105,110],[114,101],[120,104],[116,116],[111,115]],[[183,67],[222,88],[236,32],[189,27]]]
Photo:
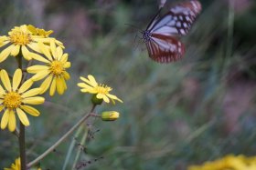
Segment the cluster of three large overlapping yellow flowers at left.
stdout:
[[[0,79],[0,112],[3,112],[1,128],[13,132],[16,129],[16,115],[20,122],[27,126],[29,121],[26,114],[38,116],[40,113],[30,105],[44,103],[44,94],[49,89],[49,95],[57,91],[62,95],[67,90],[69,80],[67,69],[70,67],[69,56],[63,53],[64,46],[53,37],[52,30],[46,31],[33,25],[16,26],[8,35],[0,36],[0,63],[8,56],[15,56],[19,67],[13,76],[1,67]],[[22,59],[25,60],[22,60]],[[35,60],[36,64],[27,63]],[[35,63],[35,62],[34,62]],[[22,65],[29,65],[22,67]],[[26,74],[32,74],[26,79]],[[11,80],[12,79],[12,80]],[[38,88],[31,88],[33,83],[42,80]]]

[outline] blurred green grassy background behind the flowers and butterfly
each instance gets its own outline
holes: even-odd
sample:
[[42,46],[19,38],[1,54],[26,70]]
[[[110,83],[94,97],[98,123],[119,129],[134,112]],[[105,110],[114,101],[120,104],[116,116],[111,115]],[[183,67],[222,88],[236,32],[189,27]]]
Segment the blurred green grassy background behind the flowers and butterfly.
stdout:
[[[72,65],[68,91],[53,98],[45,95],[47,102],[37,107],[41,115],[29,116],[28,160],[90,110],[90,96],[80,94],[76,85],[80,75],[89,74],[112,86],[123,104],[97,107],[97,112],[119,111],[121,118],[92,126],[100,132],[81,144],[87,154],[80,160],[104,158],[81,169],[183,170],[227,154],[256,155],[256,3],[201,3],[201,15],[182,37],[184,59],[160,65],[149,59],[140,38],[134,40],[139,31],[125,25],[144,29],[157,12],[157,1],[1,0],[1,35],[24,24],[52,29]],[[12,67],[12,61],[1,68]],[[43,170],[62,168],[73,138],[41,161]],[[0,144],[3,169],[18,156],[18,143],[5,130]]]

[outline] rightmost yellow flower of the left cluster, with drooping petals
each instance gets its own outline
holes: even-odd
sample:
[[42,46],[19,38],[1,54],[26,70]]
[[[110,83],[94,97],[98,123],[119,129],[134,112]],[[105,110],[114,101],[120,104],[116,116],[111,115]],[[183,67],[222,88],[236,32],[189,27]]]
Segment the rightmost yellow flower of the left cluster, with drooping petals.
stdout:
[[[68,62],[68,54],[63,54],[60,46],[56,47],[54,42],[50,43],[50,49],[43,43],[38,43],[40,49],[47,58],[37,55],[34,59],[45,63],[46,65],[33,65],[27,67],[27,72],[36,74],[32,76],[33,81],[38,81],[46,77],[40,88],[40,94],[45,93],[48,88],[49,95],[54,95],[57,89],[59,95],[62,95],[67,90],[66,80],[69,80],[69,73],[66,71],[70,67]],[[50,87],[49,87],[50,86]]]

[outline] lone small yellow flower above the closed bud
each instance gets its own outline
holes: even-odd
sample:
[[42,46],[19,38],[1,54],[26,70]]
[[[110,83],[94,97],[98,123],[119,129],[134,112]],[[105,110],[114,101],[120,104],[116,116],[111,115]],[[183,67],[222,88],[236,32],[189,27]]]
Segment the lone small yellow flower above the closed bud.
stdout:
[[78,86],[81,87],[80,91],[82,93],[95,94],[98,99],[103,99],[106,103],[110,103],[110,99],[112,100],[113,104],[114,100],[123,103],[123,101],[119,99],[116,95],[110,94],[110,91],[112,91],[111,87],[103,84],[98,84],[92,75],[88,75],[88,79],[80,76],[80,79],[84,82],[78,84]]

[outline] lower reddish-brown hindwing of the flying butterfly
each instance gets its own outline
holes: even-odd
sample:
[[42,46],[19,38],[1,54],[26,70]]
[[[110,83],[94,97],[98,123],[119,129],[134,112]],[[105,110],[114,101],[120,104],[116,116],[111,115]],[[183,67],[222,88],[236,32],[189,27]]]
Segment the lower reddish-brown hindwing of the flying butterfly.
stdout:
[[158,63],[175,62],[185,53],[185,46],[173,36],[153,34],[145,44],[150,58]]

